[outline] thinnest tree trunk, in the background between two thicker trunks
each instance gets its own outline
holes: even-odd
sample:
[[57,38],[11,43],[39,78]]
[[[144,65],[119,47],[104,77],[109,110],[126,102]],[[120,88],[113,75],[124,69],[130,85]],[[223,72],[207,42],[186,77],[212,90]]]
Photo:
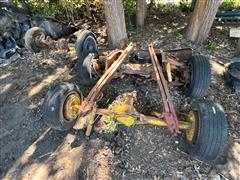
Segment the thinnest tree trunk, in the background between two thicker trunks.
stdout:
[[137,0],[137,26],[143,27],[144,26],[144,20],[146,18],[147,14],[147,3],[146,0]]

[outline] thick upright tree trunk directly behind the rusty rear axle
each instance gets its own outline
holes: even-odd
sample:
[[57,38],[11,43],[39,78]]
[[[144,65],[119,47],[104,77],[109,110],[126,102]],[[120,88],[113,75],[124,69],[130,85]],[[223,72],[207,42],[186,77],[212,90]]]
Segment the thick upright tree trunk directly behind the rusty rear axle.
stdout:
[[127,31],[122,0],[104,0],[109,45],[122,48],[127,42]]

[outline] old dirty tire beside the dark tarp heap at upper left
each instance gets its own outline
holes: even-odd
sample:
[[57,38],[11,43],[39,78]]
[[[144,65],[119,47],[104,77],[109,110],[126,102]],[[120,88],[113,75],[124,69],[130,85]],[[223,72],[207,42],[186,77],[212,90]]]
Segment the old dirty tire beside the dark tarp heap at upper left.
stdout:
[[45,32],[42,28],[33,27],[27,30],[24,36],[25,47],[32,52],[40,52],[45,45],[36,44],[35,38],[41,35],[45,36]]

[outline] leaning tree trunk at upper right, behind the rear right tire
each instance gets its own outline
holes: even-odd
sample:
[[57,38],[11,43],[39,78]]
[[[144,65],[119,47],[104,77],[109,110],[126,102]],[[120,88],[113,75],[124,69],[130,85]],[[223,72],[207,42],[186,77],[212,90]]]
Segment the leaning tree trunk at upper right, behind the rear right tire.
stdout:
[[196,1],[186,32],[188,40],[202,44],[207,39],[220,4],[220,0]]

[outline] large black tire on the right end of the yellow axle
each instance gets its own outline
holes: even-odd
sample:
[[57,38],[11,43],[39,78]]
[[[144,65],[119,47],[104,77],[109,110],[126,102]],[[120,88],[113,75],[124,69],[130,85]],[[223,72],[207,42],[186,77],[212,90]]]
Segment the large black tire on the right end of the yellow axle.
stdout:
[[199,160],[216,162],[227,147],[228,122],[223,108],[211,101],[201,100],[193,104],[197,115],[194,142],[185,137],[186,150]]

